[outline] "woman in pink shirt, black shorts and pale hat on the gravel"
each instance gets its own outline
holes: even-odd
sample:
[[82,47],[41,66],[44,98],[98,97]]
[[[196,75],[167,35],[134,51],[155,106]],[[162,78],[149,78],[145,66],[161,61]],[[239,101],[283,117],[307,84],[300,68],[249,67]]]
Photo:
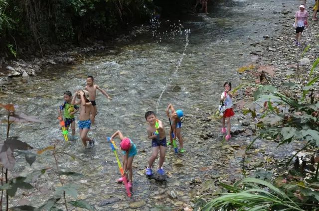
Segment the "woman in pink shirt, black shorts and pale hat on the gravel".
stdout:
[[299,6],[299,11],[295,14],[295,27],[296,27],[296,45],[300,46],[300,40],[305,28],[305,25],[308,27],[308,11],[305,10],[305,6],[302,4]]

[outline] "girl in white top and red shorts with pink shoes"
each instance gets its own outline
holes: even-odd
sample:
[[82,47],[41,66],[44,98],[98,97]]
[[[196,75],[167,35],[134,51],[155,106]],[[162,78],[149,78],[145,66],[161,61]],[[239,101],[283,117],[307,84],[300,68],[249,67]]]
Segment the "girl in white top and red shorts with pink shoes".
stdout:
[[227,135],[225,138],[228,141],[231,137],[231,135],[230,135],[230,117],[234,115],[233,101],[232,101],[233,96],[232,96],[232,94],[229,93],[229,91],[231,90],[231,83],[229,81],[225,82],[224,89],[225,89],[225,91],[221,94],[221,97],[220,97],[220,99],[224,103],[224,109],[225,109],[223,118],[221,120],[221,123],[223,125],[221,128],[221,132],[226,133],[225,120],[227,118]]

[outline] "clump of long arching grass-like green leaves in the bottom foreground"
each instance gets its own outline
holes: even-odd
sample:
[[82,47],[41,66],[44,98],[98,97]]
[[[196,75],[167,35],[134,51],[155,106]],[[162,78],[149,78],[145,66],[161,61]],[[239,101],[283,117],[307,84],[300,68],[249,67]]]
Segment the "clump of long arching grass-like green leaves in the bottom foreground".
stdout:
[[[224,188],[233,193],[223,194],[221,197],[209,201],[201,209],[211,210],[247,210],[247,211],[305,211],[301,203],[295,203],[285,192],[272,184],[256,179],[244,178],[233,186],[220,183]],[[234,191],[235,190],[235,191]]]

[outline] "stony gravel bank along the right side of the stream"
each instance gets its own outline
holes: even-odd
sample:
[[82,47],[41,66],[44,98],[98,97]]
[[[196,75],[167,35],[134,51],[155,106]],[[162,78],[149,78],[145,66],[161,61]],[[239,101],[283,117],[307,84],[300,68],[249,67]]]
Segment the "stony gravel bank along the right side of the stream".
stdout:
[[[238,67],[242,84],[273,85],[279,92],[287,96],[297,99],[302,98],[301,87],[305,87],[309,83],[310,70],[319,55],[319,22],[312,20],[313,2],[308,2],[306,9],[310,14],[310,27],[304,30],[301,39],[302,46],[298,47],[295,44],[296,33],[292,23],[294,23],[294,15],[300,3],[300,1],[294,1],[291,4],[282,3],[282,8],[280,8],[279,12],[273,11],[273,13],[276,13],[278,16],[276,24],[282,26],[281,30],[273,34],[263,34],[264,40],[249,41],[250,45],[254,48],[250,52],[253,59],[243,67]],[[263,13],[267,12],[264,9],[261,10]],[[265,23],[265,26],[266,25],[267,23]],[[265,75],[263,75],[264,77],[261,77],[261,70],[265,73]],[[319,76],[318,70],[319,67],[315,68],[313,78]],[[296,84],[296,89],[288,90],[287,85],[285,85],[287,83]],[[314,90],[314,99],[316,102],[319,100],[318,82],[315,83],[315,87],[317,87]],[[231,168],[235,173],[211,175],[210,177],[207,175],[208,179],[197,179],[199,182],[197,181],[190,184],[192,187],[192,191],[190,192],[192,200],[193,202],[197,202],[198,205],[204,203],[197,201],[198,197],[202,196],[202,194],[211,193],[214,195],[223,191],[219,186],[219,182],[233,184],[243,178],[244,175],[268,180],[278,177],[287,170],[283,167],[287,162],[287,158],[283,158],[280,154],[286,154],[287,157],[291,156],[307,143],[306,141],[298,140],[293,141],[291,144],[281,145],[275,149],[276,145],[279,144],[279,140],[272,138],[257,139],[254,144],[250,146],[249,150],[245,152],[247,146],[250,145],[251,141],[258,134],[256,124],[264,112],[264,109],[260,109],[263,107],[257,106],[256,118],[251,117],[250,113],[246,115],[242,114],[242,109],[249,109],[248,106],[252,105],[255,91],[255,86],[250,85],[240,89],[235,95],[235,102],[239,102],[239,104],[237,105],[237,109],[235,109],[236,116],[232,118],[232,138],[231,141],[219,146],[225,150],[222,163],[228,165],[228,168]],[[210,112],[204,112],[201,115],[208,116],[208,119],[209,116],[211,116],[211,121],[216,121],[211,114]],[[197,126],[201,127],[202,133],[205,134],[202,138],[209,139],[209,132],[207,132],[205,126]],[[302,150],[298,156],[303,156],[303,159],[310,163],[311,156],[316,157],[317,150],[318,148],[307,147]],[[234,163],[230,164],[231,162]],[[240,168],[240,166],[242,168]],[[213,184],[212,186],[214,188],[205,189],[207,182]],[[203,199],[209,200],[211,197],[208,195],[204,196]]]

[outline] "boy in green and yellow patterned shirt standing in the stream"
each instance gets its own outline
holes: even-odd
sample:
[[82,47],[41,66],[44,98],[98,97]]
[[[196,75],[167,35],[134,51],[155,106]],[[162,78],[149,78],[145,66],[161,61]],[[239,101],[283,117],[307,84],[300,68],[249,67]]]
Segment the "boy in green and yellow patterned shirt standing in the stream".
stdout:
[[63,93],[64,103],[59,107],[58,113],[59,117],[62,117],[62,110],[64,109],[64,123],[65,127],[68,130],[71,125],[72,135],[75,135],[75,121],[74,121],[74,113],[79,110],[79,107],[76,105],[72,105],[72,93],[70,91],[65,91]]

